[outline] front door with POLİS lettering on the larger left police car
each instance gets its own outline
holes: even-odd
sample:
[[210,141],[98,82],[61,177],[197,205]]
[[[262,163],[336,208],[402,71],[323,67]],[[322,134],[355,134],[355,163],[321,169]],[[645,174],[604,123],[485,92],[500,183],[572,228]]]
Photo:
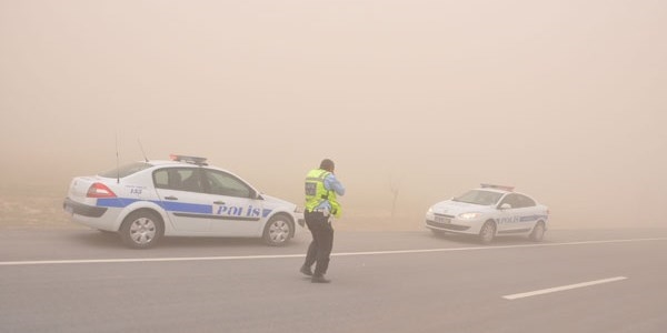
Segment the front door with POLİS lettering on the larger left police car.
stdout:
[[217,235],[257,236],[265,224],[263,201],[233,174],[208,169],[208,201],[212,203],[211,231]]

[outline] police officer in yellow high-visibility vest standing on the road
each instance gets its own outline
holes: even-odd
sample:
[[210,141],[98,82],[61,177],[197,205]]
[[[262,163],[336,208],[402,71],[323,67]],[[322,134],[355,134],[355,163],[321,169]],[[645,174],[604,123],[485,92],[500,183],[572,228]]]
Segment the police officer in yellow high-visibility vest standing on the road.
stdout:
[[[312,242],[308,246],[306,262],[301,273],[311,276],[313,283],[329,283],[325,278],[329,266],[329,256],[334,246],[334,228],[331,215],[340,216],[340,204],[336,195],[344,195],[345,188],[334,174],[334,161],[322,160],[319,169],[313,169],[306,175],[306,224],[312,233]],[[315,264],[315,272],[311,271]]]

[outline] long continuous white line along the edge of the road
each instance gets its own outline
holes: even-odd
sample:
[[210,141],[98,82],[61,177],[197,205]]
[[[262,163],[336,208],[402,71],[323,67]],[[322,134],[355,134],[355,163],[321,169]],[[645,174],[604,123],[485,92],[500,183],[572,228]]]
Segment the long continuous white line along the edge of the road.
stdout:
[[[470,246],[470,248],[418,249],[418,250],[394,250],[394,251],[369,251],[369,252],[341,252],[341,253],[331,253],[331,256],[380,255],[380,254],[412,254],[412,253],[477,251],[477,250],[487,250],[488,251],[488,250],[502,250],[502,249],[568,246],[568,245],[589,245],[589,244],[651,242],[651,241],[667,241],[667,238],[629,239],[629,240],[607,240],[607,241],[583,241],[583,242],[564,242],[564,243],[541,243],[541,244],[526,244],[526,245],[498,245],[498,246],[489,245],[489,246]],[[0,261],[0,266],[46,265],[46,264],[83,264],[83,263],[226,261],[226,260],[255,260],[255,259],[287,259],[287,258],[303,258],[303,256],[306,256],[306,255],[305,254],[276,254],[276,255],[238,255],[238,256],[130,258],[130,259]]]

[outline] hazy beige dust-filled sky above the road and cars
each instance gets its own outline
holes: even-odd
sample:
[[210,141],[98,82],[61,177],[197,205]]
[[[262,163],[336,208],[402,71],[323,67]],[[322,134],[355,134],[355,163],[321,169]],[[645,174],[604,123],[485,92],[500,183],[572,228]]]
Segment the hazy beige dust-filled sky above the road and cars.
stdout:
[[661,0],[0,0],[9,191],[64,195],[141,141],[295,202],[331,158],[348,219],[491,182],[555,226],[657,226],[666,124]]

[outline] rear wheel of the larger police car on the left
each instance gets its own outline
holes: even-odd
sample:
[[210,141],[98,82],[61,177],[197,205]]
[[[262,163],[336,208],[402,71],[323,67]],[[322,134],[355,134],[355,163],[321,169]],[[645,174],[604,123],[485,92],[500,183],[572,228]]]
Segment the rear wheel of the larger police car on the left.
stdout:
[[120,226],[120,239],[132,249],[149,249],[163,234],[162,219],[150,211],[130,213]]

